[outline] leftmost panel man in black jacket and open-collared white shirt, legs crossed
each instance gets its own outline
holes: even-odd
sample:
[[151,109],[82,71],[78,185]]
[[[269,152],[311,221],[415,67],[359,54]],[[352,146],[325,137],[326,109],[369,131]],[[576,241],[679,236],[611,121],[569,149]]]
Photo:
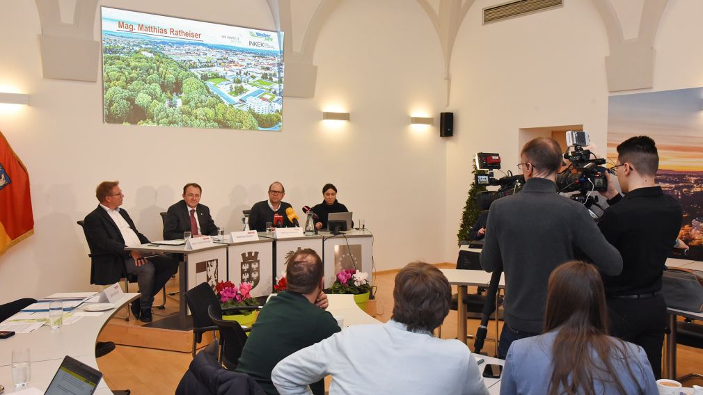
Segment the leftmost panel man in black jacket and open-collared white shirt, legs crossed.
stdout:
[[178,271],[178,262],[167,255],[145,257],[124,247],[146,244],[149,239],[139,233],[122,205],[119,181],[103,181],[96,188],[100,205],[85,218],[85,233],[91,246],[91,284],[109,285],[127,273],[136,276],[141,298],[132,302],[136,318],[151,322],[154,295]]

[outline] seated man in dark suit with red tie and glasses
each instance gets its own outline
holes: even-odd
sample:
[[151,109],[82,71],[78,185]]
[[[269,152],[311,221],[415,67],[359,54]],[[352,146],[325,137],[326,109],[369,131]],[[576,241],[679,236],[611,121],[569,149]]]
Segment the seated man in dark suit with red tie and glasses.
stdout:
[[202,188],[197,183],[183,187],[183,200],[169,207],[164,221],[164,239],[183,238],[183,232],[191,235],[217,235],[217,226],[210,216],[210,209],[200,204]]

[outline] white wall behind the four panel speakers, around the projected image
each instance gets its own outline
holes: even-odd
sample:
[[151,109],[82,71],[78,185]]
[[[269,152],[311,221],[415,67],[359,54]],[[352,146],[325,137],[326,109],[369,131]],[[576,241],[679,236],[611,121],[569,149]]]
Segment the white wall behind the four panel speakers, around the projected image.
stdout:
[[[101,4],[273,29],[263,0]],[[420,6],[342,2],[318,41],[316,96],[285,98],[283,133],[103,124],[99,82],[41,78],[40,30],[33,1],[0,4],[0,87],[32,101],[4,113],[0,130],[30,171],[35,221],[35,234],[0,257],[0,303],[89,289],[87,246],[75,221],[96,207],[96,185],[112,179],[152,240],[160,238],[158,213],[181,198],[186,182],[202,185],[202,202],[227,231],[238,228],[242,209],[266,198],[271,181],[283,182],[297,210],[320,202],[332,182],[340,202],[373,231],[378,270],[444,260],[443,215],[420,213],[445,211],[445,141],[437,127],[409,125],[413,111],[441,110],[441,56]],[[351,112],[352,122],[323,124],[321,112],[333,105]]]

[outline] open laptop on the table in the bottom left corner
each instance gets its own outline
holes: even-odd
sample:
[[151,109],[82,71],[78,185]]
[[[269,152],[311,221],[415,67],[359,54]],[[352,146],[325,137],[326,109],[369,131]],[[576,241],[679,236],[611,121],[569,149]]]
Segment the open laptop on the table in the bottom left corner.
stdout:
[[92,395],[101,378],[103,373],[66,356],[44,395]]

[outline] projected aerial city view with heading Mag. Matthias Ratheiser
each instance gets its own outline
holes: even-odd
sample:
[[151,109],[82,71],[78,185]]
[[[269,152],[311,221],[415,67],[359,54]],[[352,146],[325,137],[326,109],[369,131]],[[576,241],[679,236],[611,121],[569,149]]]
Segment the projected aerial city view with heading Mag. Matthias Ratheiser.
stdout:
[[283,32],[101,14],[104,122],[283,129]]

